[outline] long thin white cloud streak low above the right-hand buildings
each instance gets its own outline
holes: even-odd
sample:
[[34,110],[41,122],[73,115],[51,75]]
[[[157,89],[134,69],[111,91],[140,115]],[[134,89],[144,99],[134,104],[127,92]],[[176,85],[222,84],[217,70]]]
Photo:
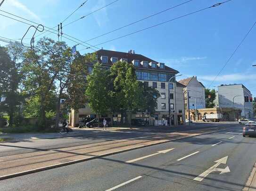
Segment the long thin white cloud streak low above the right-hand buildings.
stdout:
[[[206,76],[198,76],[200,80],[213,81],[215,78],[214,75],[206,75]],[[227,74],[218,76],[215,81],[216,82],[233,82],[233,81],[248,81],[248,80],[256,80],[256,74]]]

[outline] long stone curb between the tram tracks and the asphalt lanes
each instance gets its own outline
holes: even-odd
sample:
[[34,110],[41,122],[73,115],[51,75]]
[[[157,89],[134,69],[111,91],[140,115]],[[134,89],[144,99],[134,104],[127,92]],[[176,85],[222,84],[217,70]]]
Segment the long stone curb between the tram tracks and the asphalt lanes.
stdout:
[[162,142],[152,143],[152,144],[149,144],[149,145],[136,146],[136,147],[132,147],[132,148],[129,148],[129,149],[124,149],[124,150],[111,152],[111,153],[105,153],[105,154],[101,154],[101,155],[98,155],[98,156],[93,156],[93,157],[89,157],[89,158],[85,158],[85,159],[72,160],[72,161],[63,162],[63,163],[59,163],[59,164],[55,164],[55,165],[50,165],[50,166],[47,166],[47,167],[41,167],[41,168],[35,168],[35,169],[32,169],[32,170],[26,170],[26,171],[23,171],[23,172],[18,172],[18,173],[6,175],[6,176],[0,176],[0,180],[5,180],[5,179],[8,179],[8,178],[14,178],[14,177],[17,177],[17,176],[28,175],[28,174],[32,174],[32,173],[36,173],[36,172],[41,172],[41,171],[44,171],[44,170],[49,170],[49,169],[63,167],[63,166],[67,166],[67,165],[71,165],[71,164],[75,164],[75,163],[79,163],[79,162],[84,162],[84,161],[87,161],[87,160],[98,159],[98,158],[110,156],[110,155],[113,155],[113,154],[124,153],[124,152],[132,151],[132,150],[135,150],[135,149],[140,149],[140,148],[153,146],[153,145],[160,145],[160,144],[163,144],[163,143],[168,143],[168,142],[171,142],[171,141],[174,141],[174,140],[179,140],[179,139],[182,139],[182,138],[191,138],[191,137],[210,134],[210,133],[214,133],[214,132],[218,132],[218,131],[223,131],[223,130],[215,130],[215,131],[210,131],[210,132],[206,132],[206,133],[201,133],[199,135],[192,135],[192,136],[188,136],[188,137],[174,138],[174,139],[171,139],[171,140],[165,140],[165,141],[162,141]]

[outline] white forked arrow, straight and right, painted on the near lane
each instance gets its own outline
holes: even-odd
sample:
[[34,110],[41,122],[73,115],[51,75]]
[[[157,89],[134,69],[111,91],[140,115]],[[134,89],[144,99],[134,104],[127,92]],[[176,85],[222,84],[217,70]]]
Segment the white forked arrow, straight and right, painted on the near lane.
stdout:
[[215,160],[216,164],[209,169],[207,169],[205,172],[194,178],[193,180],[201,182],[206,176],[208,176],[211,172],[221,172],[220,175],[230,172],[229,167],[227,166],[226,168],[217,168],[220,164],[226,164],[228,160],[228,156],[225,156],[219,160]]

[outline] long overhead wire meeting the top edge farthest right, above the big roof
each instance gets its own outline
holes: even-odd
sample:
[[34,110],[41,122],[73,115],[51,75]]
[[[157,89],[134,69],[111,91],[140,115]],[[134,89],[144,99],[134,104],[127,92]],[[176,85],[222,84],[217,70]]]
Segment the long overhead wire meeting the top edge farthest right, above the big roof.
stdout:
[[[221,2],[221,3],[214,4],[214,5],[210,6],[210,7],[202,8],[202,9],[199,9],[199,10],[197,10],[197,11],[193,11],[193,12],[190,12],[190,13],[188,13],[188,14],[185,14],[185,15],[178,16],[178,17],[176,17],[176,18],[167,20],[167,21],[162,22],[162,23],[157,23],[157,24],[155,24],[155,25],[146,27],[146,28],[144,28],[144,29],[140,29],[140,30],[138,30],[138,31],[134,31],[134,32],[128,33],[128,34],[126,34],[126,35],[123,35],[123,36],[120,36],[120,37],[117,37],[117,38],[113,38],[113,39],[107,40],[107,41],[102,42],[102,43],[99,43],[99,44],[97,44],[97,45],[95,45],[95,46],[103,45],[103,44],[106,44],[106,43],[108,43],[108,42],[111,42],[111,41],[114,41],[114,40],[117,40],[117,39],[120,39],[120,38],[124,38],[124,37],[130,36],[130,35],[132,35],[132,34],[135,34],[135,33],[141,32],[141,31],[145,31],[145,30],[148,30],[148,29],[157,27],[157,26],[162,25],[162,24],[165,24],[165,23],[172,22],[172,21],[174,21],[174,20],[183,18],[183,17],[185,17],[185,16],[193,15],[193,14],[195,14],[195,13],[204,11],[204,10],[209,9],[209,8],[215,8],[215,7],[220,6],[220,5],[222,5],[222,4],[226,3],[226,2],[229,2],[229,1],[231,1],[231,0],[226,0],[226,1],[223,1],[223,2]],[[82,49],[82,50],[85,50],[85,49]],[[82,51],[82,50],[79,50],[79,51]]]

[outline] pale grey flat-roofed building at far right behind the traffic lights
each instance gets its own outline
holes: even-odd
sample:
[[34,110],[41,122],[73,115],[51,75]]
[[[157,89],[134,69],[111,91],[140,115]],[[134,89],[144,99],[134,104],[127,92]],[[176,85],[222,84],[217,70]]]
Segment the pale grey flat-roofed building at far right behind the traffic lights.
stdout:
[[216,107],[239,108],[242,110],[242,117],[253,117],[252,94],[243,84],[222,84],[218,86],[217,99],[218,106],[216,105]]

